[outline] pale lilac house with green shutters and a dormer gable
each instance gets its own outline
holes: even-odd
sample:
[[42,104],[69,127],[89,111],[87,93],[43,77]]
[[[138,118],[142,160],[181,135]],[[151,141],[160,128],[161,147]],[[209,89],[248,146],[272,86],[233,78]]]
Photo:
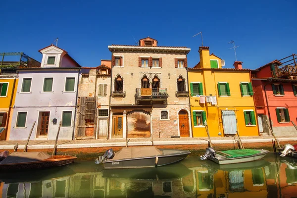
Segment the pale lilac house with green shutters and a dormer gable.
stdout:
[[[9,140],[73,139],[81,66],[67,51],[50,45],[39,50],[41,67],[19,68]],[[35,122],[35,125],[34,125]]]

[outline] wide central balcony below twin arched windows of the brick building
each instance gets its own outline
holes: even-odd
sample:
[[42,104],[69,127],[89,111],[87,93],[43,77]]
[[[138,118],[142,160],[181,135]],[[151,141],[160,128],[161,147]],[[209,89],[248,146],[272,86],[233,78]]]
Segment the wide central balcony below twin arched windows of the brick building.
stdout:
[[167,89],[166,88],[136,88],[135,103],[139,104],[140,101],[163,101],[167,103]]

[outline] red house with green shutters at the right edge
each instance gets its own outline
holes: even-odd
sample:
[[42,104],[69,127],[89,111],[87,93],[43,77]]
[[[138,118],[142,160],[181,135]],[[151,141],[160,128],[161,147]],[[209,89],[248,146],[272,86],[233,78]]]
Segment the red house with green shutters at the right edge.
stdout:
[[297,134],[297,55],[253,70],[251,82],[260,134]]

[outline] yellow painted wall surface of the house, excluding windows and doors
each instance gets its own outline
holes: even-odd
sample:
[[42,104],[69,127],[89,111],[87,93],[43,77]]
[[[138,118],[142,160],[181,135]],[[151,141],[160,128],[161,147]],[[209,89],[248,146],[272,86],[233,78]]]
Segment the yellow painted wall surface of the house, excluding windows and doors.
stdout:
[[[240,83],[250,82],[250,73],[245,70],[221,70],[210,69],[210,59],[216,59],[221,68],[221,59],[209,55],[208,50],[200,50],[200,68],[189,69],[188,83],[190,91],[190,103],[192,113],[192,129],[193,137],[206,137],[206,128],[203,126],[194,126],[193,110],[204,110],[206,112],[206,120],[209,134],[212,137],[224,136],[221,110],[235,110],[238,120],[238,132],[241,136],[257,136],[258,126],[257,117],[252,96],[241,96]],[[201,58],[203,60],[201,60]],[[208,63],[208,64],[207,64]],[[217,96],[217,104],[199,103],[200,97],[191,96],[191,82],[203,83],[204,96]],[[217,84],[218,82],[228,82],[230,87],[230,97],[219,97]],[[246,126],[244,110],[253,110],[256,125]]]

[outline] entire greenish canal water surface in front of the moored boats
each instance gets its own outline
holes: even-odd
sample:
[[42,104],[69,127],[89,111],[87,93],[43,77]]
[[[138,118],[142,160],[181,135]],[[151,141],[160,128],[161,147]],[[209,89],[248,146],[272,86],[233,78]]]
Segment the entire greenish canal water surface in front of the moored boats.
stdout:
[[297,160],[273,152],[219,166],[188,156],[144,169],[104,170],[94,161],[40,171],[0,173],[2,198],[293,198]]

